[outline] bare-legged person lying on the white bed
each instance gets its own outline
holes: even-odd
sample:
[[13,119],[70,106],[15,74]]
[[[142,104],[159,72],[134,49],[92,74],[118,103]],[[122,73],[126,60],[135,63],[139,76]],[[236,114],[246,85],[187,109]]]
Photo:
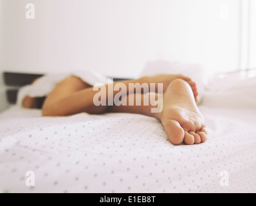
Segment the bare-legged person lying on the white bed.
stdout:
[[[112,83],[114,86],[119,82]],[[172,144],[178,145],[184,142],[187,145],[200,144],[206,142],[206,125],[202,114],[197,107],[198,91],[193,80],[184,75],[154,75],[141,77],[136,80],[122,81],[125,84],[125,98],[122,101],[128,101],[129,96],[133,95],[134,101],[138,93],[129,91],[129,83],[162,83],[163,94],[155,93],[156,99],[161,99],[162,109],[159,113],[152,113],[151,109],[156,104],[144,106],[145,98],[150,98],[149,93],[140,94],[142,104],[140,106],[95,106],[94,95],[98,91],[94,91],[89,84],[83,82],[79,77],[71,75],[61,80],[56,87],[48,94],[42,105],[43,116],[68,116],[77,113],[86,112],[89,114],[103,113],[136,113],[155,117],[162,122],[165,132],[169,136]],[[136,84],[135,84],[136,85]],[[108,91],[109,84],[105,87]],[[113,96],[119,91],[113,91]],[[106,95],[108,98],[108,95]],[[108,102],[108,100],[106,99]],[[37,105],[36,98],[25,97],[22,105],[24,108],[35,108]]]

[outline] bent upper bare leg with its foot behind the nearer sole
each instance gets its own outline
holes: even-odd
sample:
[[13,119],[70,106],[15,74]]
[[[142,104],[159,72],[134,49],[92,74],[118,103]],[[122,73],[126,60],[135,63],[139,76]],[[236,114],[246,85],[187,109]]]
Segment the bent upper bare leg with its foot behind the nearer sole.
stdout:
[[[176,78],[182,78],[187,80],[189,86],[193,89],[195,98],[197,98],[197,88],[195,87],[195,82],[191,81],[188,77],[183,75],[157,75],[156,77],[142,77],[136,80],[123,81],[122,84],[125,85],[125,95],[129,93],[134,93],[136,88],[130,89],[129,84],[136,84],[140,86],[141,84],[151,82],[164,82],[164,91],[169,85],[168,82]],[[114,82],[112,86],[115,86],[120,82]],[[108,88],[110,85],[105,85],[106,88],[106,98],[109,97]],[[137,86],[137,87],[139,87]],[[110,89],[111,90],[111,89]],[[81,112],[87,112],[90,114],[101,114],[108,111],[109,106],[95,106],[94,96],[98,91],[85,84],[78,77],[68,77],[67,79],[59,82],[56,88],[48,95],[45,103],[43,104],[42,113],[43,116],[67,116],[74,115]],[[111,91],[111,96],[114,97],[119,91]],[[108,99],[106,99],[107,101]],[[136,108],[134,108],[136,109]]]

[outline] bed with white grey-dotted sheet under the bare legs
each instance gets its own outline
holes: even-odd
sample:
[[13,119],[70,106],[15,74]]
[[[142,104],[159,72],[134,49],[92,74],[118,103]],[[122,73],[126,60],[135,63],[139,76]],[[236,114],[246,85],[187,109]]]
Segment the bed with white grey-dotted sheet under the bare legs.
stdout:
[[143,115],[14,104],[0,115],[0,192],[256,192],[256,79],[234,78],[209,81],[198,145],[172,145]]

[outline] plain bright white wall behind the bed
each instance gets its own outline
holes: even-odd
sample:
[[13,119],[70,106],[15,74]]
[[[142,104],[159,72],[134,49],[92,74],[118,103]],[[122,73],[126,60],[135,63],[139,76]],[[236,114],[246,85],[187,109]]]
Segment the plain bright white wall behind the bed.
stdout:
[[[35,5],[36,19],[26,19],[27,3]],[[197,61],[208,73],[238,68],[239,0],[2,0],[2,5],[3,70],[87,68],[135,77],[153,60]]]

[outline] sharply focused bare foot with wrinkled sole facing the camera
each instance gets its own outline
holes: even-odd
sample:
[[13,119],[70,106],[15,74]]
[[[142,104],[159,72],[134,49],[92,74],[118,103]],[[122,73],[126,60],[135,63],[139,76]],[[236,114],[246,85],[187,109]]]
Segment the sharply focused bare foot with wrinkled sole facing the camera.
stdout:
[[195,91],[191,85],[175,79],[164,93],[163,110],[159,119],[171,143],[188,145],[206,142],[204,117],[197,108]]

